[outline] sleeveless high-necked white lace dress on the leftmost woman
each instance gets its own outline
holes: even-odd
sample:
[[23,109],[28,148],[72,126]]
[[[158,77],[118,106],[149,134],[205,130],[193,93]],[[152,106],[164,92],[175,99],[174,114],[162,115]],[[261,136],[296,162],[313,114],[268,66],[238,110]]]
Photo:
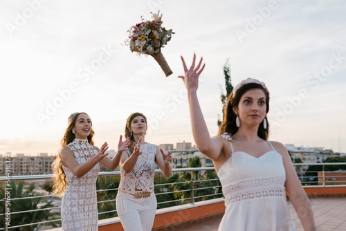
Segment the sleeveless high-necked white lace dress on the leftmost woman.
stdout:
[[[74,139],[66,145],[75,156],[78,164],[90,160],[98,151],[88,140]],[[96,198],[96,180],[100,166],[95,165],[87,174],[78,178],[63,165],[67,178],[67,187],[62,198],[62,230],[97,231],[98,205]]]

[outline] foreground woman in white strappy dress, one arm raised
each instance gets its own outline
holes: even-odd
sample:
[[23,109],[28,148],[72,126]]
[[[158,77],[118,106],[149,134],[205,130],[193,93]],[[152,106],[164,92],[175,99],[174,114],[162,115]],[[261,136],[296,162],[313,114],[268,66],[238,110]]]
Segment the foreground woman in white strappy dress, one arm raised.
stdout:
[[293,231],[286,193],[304,230],[315,230],[307,194],[291,158],[280,142],[268,142],[269,92],[255,79],[235,86],[224,109],[219,136],[210,137],[197,99],[202,59],[188,68],[183,57],[183,79],[188,90],[192,133],[198,149],[212,159],[225,196],[221,230]]

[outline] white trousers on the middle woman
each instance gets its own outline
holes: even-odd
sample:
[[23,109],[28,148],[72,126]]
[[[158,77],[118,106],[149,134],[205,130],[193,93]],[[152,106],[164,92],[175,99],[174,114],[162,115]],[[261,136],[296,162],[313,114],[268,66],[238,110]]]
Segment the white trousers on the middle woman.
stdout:
[[150,231],[154,224],[157,201],[154,192],[137,199],[124,192],[116,195],[116,212],[125,231]]

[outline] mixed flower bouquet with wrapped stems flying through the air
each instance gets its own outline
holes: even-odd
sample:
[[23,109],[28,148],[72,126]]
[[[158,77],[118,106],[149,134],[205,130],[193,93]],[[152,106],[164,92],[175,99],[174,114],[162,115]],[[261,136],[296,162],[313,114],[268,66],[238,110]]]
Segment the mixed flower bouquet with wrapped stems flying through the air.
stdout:
[[172,75],[172,70],[168,66],[165,57],[161,53],[161,48],[170,41],[172,34],[174,32],[171,30],[166,30],[161,26],[163,21],[161,21],[162,14],[159,16],[160,10],[157,14],[152,14],[154,18],[153,21],[145,21],[141,17],[142,22],[131,26],[127,32],[129,33],[129,39],[127,40],[127,45],[129,45],[132,52],[136,51],[138,55],[151,55],[154,57],[156,62],[161,66],[166,77]]

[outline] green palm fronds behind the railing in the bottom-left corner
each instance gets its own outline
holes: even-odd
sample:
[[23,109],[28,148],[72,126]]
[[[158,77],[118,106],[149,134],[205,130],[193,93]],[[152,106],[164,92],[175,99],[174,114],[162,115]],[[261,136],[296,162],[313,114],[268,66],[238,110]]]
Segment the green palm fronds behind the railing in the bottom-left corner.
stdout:
[[[49,207],[55,207],[52,203],[53,201],[48,201],[46,198],[38,197],[38,198],[27,198],[14,200],[15,198],[26,198],[32,196],[40,196],[35,192],[35,183],[31,183],[29,187],[24,191],[24,181],[19,181],[16,185],[15,181],[11,182],[12,189],[11,192],[11,201],[10,201],[10,211],[11,212],[21,212],[27,210],[37,210],[44,209]],[[5,192],[3,188],[0,188],[0,196],[1,198],[5,197]],[[0,205],[1,211],[3,211],[3,205]],[[11,214],[11,226],[16,225],[26,225],[28,223],[37,223],[40,221],[50,221],[54,219],[59,219],[59,212],[51,212],[51,210],[39,210],[33,212],[24,212],[19,214]],[[53,221],[48,223],[53,228],[60,225],[60,221]],[[15,228],[13,230],[24,230],[30,231],[37,228],[39,225],[27,225],[22,228]]]

